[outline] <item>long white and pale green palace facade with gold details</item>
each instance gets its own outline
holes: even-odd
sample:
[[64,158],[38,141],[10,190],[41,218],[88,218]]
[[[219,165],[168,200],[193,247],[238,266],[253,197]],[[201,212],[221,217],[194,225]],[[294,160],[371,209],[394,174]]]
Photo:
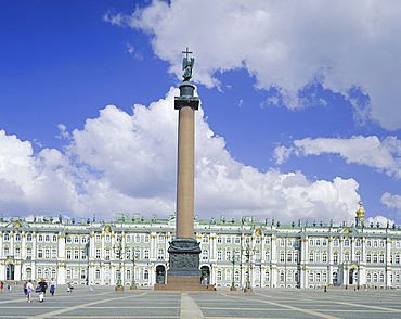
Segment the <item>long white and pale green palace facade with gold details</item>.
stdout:
[[[320,288],[331,285],[400,288],[401,228],[365,225],[362,203],[355,224],[281,225],[244,217],[241,221],[198,220],[195,235],[204,282],[217,286]],[[165,283],[168,247],[176,219],[117,214],[115,221],[93,217],[0,219],[0,280],[56,279],[59,284]]]

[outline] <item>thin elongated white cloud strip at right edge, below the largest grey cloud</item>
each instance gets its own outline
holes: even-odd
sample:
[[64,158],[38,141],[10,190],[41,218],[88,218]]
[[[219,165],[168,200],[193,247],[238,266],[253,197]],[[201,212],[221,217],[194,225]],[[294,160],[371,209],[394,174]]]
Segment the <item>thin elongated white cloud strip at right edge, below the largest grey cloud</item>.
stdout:
[[401,141],[397,137],[379,140],[376,136],[350,139],[306,138],[295,140],[294,146],[277,146],[274,151],[277,164],[287,161],[292,153],[297,156],[336,153],[347,163],[355,163],[401,178]]

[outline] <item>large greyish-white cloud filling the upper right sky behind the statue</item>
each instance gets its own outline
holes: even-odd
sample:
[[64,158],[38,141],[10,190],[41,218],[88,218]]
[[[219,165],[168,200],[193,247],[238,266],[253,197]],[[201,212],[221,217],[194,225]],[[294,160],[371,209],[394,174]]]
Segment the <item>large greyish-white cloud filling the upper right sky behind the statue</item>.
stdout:
[[[216,71],[240,67],[274,87],[292,109],[313,82],[350,100],[355,116],[401,128],[400,1],[152,1],[104,21],[147,33],[155,53],[181,78],[181,50],[195,52],[194,80],[219,85]],[[361,103],[354,88],[367,94]],[[313,99],[312,99],[313,100]]]

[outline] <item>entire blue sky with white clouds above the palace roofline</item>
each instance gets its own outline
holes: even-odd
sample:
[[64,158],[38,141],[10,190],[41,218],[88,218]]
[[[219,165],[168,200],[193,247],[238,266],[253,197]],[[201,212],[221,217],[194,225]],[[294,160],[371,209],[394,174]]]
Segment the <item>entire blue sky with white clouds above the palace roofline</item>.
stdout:
[[401,4],[348,2],[0,1],[0,212],[172,214],[190,47],[195,214],[401,224]]

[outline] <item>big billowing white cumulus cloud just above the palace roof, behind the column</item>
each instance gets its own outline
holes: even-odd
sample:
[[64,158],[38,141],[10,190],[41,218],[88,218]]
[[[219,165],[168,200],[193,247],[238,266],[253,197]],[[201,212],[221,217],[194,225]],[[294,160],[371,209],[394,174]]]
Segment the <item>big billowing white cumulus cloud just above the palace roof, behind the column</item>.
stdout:
[[[158,214],[176,209],[177,126],[172,88],[132,114],[108,105],[72,132],[65,146],[35,153],[29,141],[0,131],[0,210],[5,215],[69,214],[111,219],[117,212]],[[261,173],[234,161],[225,141],[196,112],[195,214],[282,222],[298,218],[353,221],[358,182],[310,181],[300,173]]]

